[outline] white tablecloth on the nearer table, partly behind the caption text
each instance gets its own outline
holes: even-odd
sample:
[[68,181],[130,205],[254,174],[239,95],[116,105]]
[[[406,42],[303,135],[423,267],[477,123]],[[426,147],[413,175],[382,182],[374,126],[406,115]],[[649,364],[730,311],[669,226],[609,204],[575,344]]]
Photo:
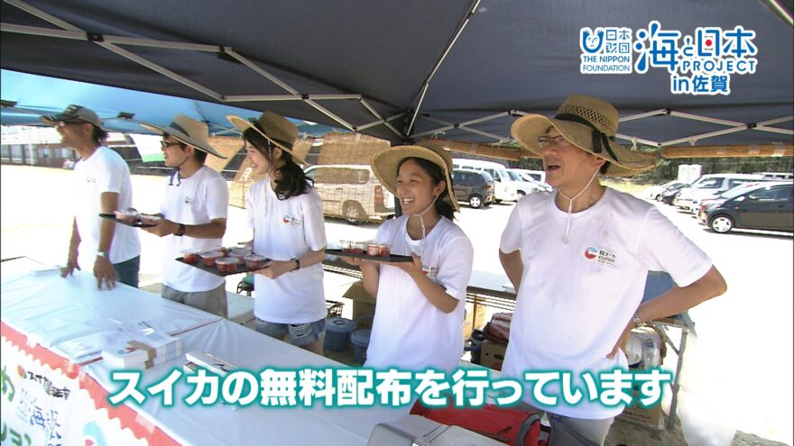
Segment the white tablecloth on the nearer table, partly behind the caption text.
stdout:
[[[254,332],[237,323],[222,320],[179,335],[184,351],[203,350],[248,369],[258,375],[264,368],[299,369],[342,367],[307,350],[293,347]],[[172,360],[143,371],[144,388],[169,375],[180,360]],[[83,367],[88,376],[95,378],[106,389],[115,391],[122,383],[110,380],[111,369],[104,361]],[[174,387],[177,402],[163,407],[155,399],[147,399],[143,406],[134,409],[150,422],[159,426],[171,438],[184,444],[307,444],[307,445],[365,445],[375,424],[393,422],[408,415],[409,407],[395,409],[375,405],[367,408],[328,408],[316,403],[303,407],[261,407],[250,405],[233,410],[222,405],[187,406],[180,398],[188,396],[192,387],[180,378]]]

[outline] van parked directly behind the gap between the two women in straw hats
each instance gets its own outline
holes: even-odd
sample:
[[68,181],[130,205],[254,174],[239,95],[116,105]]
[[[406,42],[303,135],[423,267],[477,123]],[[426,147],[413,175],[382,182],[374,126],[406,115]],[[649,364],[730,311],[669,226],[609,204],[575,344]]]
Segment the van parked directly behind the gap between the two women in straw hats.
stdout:
[[394,196],[369,165],[328,164],[306,168],[323,202],[323,214],[347,223],[381,222],[394,214]]

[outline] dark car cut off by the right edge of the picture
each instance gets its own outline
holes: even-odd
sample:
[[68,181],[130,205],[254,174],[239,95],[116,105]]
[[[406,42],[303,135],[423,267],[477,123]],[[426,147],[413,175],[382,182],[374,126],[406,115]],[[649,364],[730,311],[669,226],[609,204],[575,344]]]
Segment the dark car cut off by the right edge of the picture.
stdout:
[[744,190],[713,206],[706,223],[718,233],[734,228],[794,232],[792,183],[762,183]]

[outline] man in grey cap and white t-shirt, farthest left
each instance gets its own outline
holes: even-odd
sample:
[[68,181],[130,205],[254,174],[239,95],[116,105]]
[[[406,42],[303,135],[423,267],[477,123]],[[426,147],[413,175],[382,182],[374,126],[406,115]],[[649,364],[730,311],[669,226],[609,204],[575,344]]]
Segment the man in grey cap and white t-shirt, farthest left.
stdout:
[[80,157],[74,168],[77,187],[69,256],[61,276],[65,278],[80,269],[78,258],[91,259],[99,289],[103,282],[111,289],[116,281],[138,287],[141,265],[138,233],[134,228],[99,218],[99,214],[113,214],[132,205],[129,166],[103,144],[107,132],[93,110],[69,105],[60,114],[42,116],[42,123],[55,126],[61,143],[77,151]]

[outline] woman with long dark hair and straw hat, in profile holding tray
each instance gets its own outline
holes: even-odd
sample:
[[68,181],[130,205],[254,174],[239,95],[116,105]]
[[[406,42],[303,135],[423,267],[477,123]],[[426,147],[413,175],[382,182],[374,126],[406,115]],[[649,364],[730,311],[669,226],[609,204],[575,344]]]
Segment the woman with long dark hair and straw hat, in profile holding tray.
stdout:
[[271,259],[254,276],[256,331],[321,355],[325,221],[322,201],[296,163],[305,161],[292,151],[298,128],[272,112],[256,121],[227,117],[243,134],[254,174],[265,175],[245,197],[254,253]]

